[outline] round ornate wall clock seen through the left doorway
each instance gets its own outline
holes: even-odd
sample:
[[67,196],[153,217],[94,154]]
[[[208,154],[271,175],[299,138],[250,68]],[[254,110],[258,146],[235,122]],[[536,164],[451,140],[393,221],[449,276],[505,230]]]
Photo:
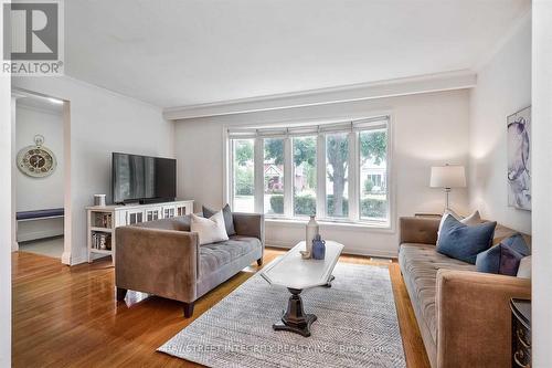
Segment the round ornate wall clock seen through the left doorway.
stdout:
[[55,155],[43,146],[44,137],[34,136],[35,146],[22,148],[18,154],[18,167],[24,175],[33,178],[47,177],[54,172],[57,161]]

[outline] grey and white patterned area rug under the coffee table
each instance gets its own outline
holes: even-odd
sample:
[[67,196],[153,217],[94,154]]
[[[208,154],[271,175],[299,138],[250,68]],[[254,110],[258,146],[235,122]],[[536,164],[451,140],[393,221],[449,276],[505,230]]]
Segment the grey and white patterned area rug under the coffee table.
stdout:
[[301,293],[311,336],[272,328],[289,293],[254,275],[162,345],[209,367],[405,367],[388,267],[338,263],[332,287]]

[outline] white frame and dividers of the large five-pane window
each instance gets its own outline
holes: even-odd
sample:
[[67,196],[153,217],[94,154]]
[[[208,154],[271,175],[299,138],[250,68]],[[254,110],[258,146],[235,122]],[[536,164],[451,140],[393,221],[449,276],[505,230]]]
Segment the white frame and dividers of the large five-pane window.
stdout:
[[[388,189],[388,219],[386,221],[380,221],[376,219],[360,219],[360,147],[359,147],[359,132],[368,130],[364,127],[353,127],[349,134],[349,218],[338,219],[338,218],[327,218],[326,217],[326,135],[333,132],[343,132],[344,129],[333,128],[335,126],[343,126],[347,122],[361,122],[370,125],[371,122],[382,122],[386,120],[385,128],[388,132],[388,151],[386,151],[386,189]],[[314,120],[310,120],[312,123]],[[261,138],[255,139],[255,212],[264,213],[264,174],[263,174],[263,162],[264,162],[264,146],[263,138],[283,138],[284,137],[284,214],[266,214],[265,218],[268,222],[273,223],[286,223],[286,224],[304,224],[308,217],[296,217],[294,215],[294,181],[293,181],[293,147],[291,137],[298,136],[317,136],[317,219],[318,221],[328,227],[353,227],[359,229],[374,229],[379,231],[391,231],[395,230],[395,192],[396,183],[394,178],[394,165],[393,165],[393,116],[391,112],[383,112],[380,114],[371,115],[370,117],[355,117],[355,118],[336,118],[332,119],[335,124],[327,124],[323,120],[315,122],[314,126],[309,129],[306,126],[299,126],[299,123],[268,123],[263,125],[252,126],[224,126],[223,127],[223,138],[224,138],[224,150],[223,150],[223,175],[224,175],[224,188],[223,188],[223,200],[231,206],[233,206],[233,138]],[[316,124],[317,123],[317,124]],[[285,125],[285,126],[284,126]],[[274,126],[277,126],[274,128]],[[317,126],[318,129],[314,130]],[[352,124],[351,124],[352,126]],[[270,127],[274,132],[266,132],[259,134],[259,130],[265,127]],[[322,128],[320,128],[322,127]],[[254,132],[256,129],[256,132]],[[238,137],[231,136],[230,132],[243,132],[243,135]],[[268,130],[268,129],[267,129]],[[299,130],[298,133],[295,133]],[[254,132],[252,134],[252,132]],[[318,133],[317,133],[318,132]],[[284,134],[283,134],[284,133]],[[289,135],[287,135],[289,133]],[[352,155],[351,155],[352,151]],[[257,164],[259,162],[259,164]],[[354,167],[354,170],[351,170]],[[258,170],[261,168],[261,170]],[[261,175],[257,175],[257,171]],[[257,192],[258,191],[258,192]],[[351,203],[357,203],[358,206],[351,206]]]

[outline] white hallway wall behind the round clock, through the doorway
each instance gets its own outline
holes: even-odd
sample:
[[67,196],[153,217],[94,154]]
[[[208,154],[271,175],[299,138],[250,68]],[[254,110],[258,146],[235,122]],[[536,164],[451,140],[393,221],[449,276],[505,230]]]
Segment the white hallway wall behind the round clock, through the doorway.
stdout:
[[[44,146],[57,160],[55,171],[44,178],[32,178],[15,169],[17,211],[63,208],[63,118],[61,109],[23,105],[19,98],[15,108],[15,151],[34,145],[34,136],[44,136]],[[63,219],[21,221],[18,241],[63,235]]]

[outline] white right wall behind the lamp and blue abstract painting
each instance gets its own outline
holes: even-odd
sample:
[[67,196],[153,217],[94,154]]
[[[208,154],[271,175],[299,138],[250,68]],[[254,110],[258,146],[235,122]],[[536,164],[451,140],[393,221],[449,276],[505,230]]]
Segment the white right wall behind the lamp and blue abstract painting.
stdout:
[[531,19],[477,74],[470,93],[470,207],[531,233],[531,212],[508,207],[506,118],[531,105]]

